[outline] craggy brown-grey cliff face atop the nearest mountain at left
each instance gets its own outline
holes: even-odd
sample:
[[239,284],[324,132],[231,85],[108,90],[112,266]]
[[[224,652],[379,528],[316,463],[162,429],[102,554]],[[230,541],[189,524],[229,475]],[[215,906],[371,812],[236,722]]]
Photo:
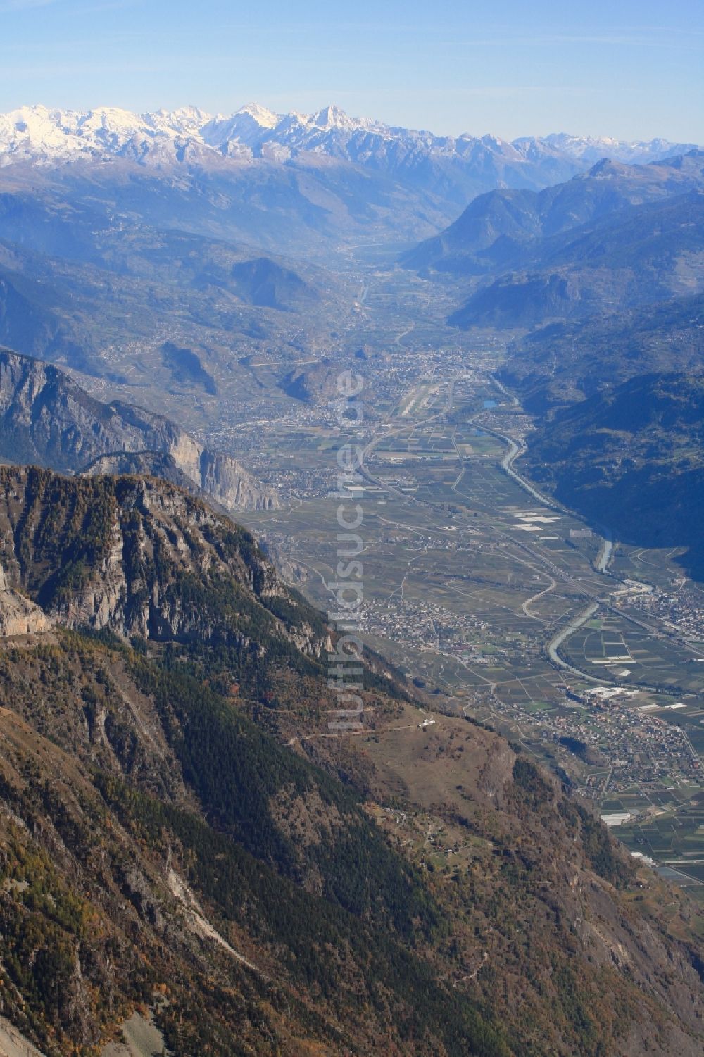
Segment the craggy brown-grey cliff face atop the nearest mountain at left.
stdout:
[[312,656],[329,643],[315,611],[290,596],[248,533],[163,481],[5,467],[0,534],[0,606],[16,599],[12,612],[5,607],[14,629],[5,634],[43,619],[255,652],[266,648],[262,634]]

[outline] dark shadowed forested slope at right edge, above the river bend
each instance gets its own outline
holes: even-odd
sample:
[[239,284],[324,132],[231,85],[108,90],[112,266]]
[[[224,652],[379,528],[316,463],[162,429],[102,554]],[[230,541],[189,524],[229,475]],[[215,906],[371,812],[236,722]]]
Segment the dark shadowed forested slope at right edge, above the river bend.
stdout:
[[688,546],[685,564],[704,575],[703,377],[638,375],[558,410],[531,438],[529,465],[618,539]]

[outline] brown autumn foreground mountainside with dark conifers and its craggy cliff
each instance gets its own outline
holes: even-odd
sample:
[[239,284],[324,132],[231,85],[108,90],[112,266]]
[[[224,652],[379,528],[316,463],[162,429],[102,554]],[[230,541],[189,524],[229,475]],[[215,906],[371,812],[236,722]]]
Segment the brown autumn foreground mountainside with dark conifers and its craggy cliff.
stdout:
[[[5,468],[0,539],[75,629],[0,644],[3,1014],[50,1057],[137,1008],[184,1057],[700,1053],[685,897],[372,669],[369,749],[330,738],[328,629],[248,534],[162,482]],[[413,861],[399,810],[468,857]]]

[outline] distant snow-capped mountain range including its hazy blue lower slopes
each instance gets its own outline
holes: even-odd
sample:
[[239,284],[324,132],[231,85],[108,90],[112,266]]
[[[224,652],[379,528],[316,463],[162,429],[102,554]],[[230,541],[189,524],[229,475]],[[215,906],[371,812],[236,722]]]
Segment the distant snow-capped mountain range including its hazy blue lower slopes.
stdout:
[[[590,164],[580,143],[441,136],[337,107],[281,115],[251,104],[215,117],[197,108],[137,115],[22,107],[0,115],[0,194],[60,186],[67,201],[135,210],[158,226],[310,254],[363,229],[412,241],[482,191],[569,179]],[[686,149],[605,145],[629,161]],[[172,170],[178,178],[165,179]]]

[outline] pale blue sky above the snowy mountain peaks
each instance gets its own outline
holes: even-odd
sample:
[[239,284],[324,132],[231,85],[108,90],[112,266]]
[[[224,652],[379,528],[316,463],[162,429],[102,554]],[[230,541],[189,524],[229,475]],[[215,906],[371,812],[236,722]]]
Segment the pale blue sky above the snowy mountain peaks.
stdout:
[[443,133],[704,143],[704,4],[0,0],[0,110],[249,100]]

